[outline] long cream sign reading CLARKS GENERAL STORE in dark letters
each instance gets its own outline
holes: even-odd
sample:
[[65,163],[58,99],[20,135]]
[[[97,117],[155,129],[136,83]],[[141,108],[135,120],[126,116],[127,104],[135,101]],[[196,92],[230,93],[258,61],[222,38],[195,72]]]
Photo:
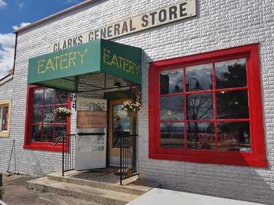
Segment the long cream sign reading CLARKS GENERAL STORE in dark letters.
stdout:
[[119,36],[125,36],[129,33],[172,23],[195,15],[196,0],[185,0],[166,8],[135,16],[134,18],[128,18],[127,20],[101,27],[99,29],[92,29],[91,31],[81,33],[72,38],[66,38],[60,42],[55,42],[50,45],[50,50],[60,51],[62,49],[67,49],[100,38],[112,39]]

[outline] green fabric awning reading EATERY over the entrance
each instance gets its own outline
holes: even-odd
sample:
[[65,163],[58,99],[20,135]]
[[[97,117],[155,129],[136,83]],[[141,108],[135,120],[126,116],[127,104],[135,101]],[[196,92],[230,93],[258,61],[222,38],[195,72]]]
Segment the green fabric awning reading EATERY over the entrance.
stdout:
[[103,72],[140,85],[142,49],[97,40],[33,57],[29,59],[27,83],[75,92],[75,79],[92,72]]

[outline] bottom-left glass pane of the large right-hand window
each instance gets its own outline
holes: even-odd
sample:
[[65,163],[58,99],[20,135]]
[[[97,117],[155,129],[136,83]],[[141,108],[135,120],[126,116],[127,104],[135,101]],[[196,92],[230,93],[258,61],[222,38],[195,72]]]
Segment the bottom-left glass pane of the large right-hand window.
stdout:
[[160,146],[162,148],[184,148],[184,123],[161,123]]

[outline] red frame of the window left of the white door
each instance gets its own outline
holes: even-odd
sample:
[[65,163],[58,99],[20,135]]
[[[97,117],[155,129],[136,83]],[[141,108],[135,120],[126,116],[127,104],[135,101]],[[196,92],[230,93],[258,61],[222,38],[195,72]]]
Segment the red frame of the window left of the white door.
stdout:
[[[43,89],[45,87],[39,87],[37,85],[27,85],[27,108],[25,116],[25,141],[24,149],[30,150],[45,150],[50,152],[62,152],[62,143],[58,143],[56,146],[53,146],[53,142],[33,142],[32,141],[32,110],[33,110],[33,94],[34,90]],[[67,108],[71,108],[71,100],[67,101]],[[71,118],[66,118],[66,134],[69,135],[71,132]],[[69,143],[66,143],[65,148],[69,146]],[[66,150],[66,149],[65,149]]]

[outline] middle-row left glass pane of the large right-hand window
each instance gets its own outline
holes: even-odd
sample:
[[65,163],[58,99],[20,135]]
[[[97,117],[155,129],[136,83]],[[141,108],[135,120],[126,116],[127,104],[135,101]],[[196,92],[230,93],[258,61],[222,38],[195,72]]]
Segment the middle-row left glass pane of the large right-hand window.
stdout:
[[161,97],[160,120],[184,120],[183,96]]

